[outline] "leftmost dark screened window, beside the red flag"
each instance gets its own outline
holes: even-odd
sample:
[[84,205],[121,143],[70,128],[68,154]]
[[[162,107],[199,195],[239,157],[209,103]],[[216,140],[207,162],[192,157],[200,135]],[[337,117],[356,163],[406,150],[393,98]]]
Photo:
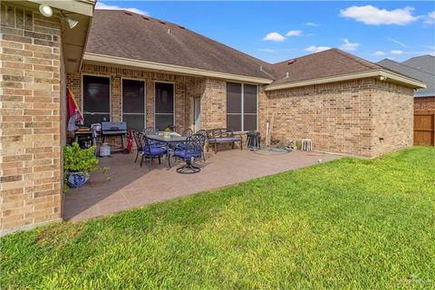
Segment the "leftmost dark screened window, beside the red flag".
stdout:
[[84,124],[111,121],[111,79],[102,76],[83,75]]

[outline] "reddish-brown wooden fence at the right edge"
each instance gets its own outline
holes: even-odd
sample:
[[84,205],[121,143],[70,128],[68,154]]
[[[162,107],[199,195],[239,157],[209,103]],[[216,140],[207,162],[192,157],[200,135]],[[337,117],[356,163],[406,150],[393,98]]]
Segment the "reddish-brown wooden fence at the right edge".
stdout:
[[414,145],[435,145],[435,111],[414,111]]

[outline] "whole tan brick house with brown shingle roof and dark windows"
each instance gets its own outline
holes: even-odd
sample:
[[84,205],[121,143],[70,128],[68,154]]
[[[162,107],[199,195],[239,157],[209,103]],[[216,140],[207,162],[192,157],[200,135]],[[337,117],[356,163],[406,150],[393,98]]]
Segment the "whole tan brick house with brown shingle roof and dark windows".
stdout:
[[[311,138],[315,150],[374,158],[412,145],[412,95],[424,84],[352,54],[271,64],[177,24],[93,11],[92,1],[56,2],[52,17],[36,2],[1,6],[3,232],[61,218],[66,87],[86,124],[265,136],[274,120],[273,138]],[[65,14],[78,26],[65,27]]]

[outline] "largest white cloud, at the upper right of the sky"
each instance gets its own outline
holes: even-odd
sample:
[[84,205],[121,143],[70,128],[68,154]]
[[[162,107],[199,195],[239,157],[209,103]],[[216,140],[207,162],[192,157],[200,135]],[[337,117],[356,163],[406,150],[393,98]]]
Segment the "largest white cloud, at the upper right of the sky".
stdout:
[[353,18],[358,22],[369,25],[396,24],[405,25],[417,20],[419,17],[412,15],[413,7],[406,6],[402,9],[386,10],[372,5],[351,6],[340,10],[340,15]]

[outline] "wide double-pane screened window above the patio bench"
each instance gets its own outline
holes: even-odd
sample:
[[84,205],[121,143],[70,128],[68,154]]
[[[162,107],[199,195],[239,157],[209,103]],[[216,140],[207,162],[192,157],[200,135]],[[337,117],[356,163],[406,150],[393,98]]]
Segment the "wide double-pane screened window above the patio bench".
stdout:
[[227,82],[227,128],[256,131],[256,85]]

